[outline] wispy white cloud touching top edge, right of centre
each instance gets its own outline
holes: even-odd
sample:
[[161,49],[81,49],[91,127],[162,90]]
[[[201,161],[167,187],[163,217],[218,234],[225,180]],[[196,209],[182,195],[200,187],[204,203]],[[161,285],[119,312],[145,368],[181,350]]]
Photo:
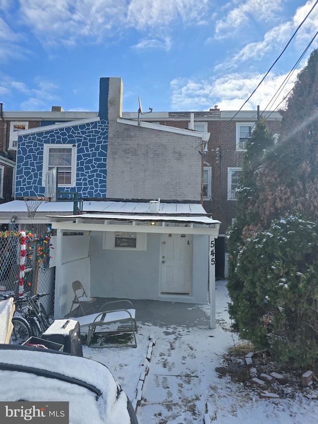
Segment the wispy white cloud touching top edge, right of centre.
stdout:
[[216,22],[215,38],[233,37],[237,30],[240,30],[240,32],[246,31],[246,25],[251,19],[259,22],[272,21],[277,17],[277,13],[282,10],[281,3],[281,0],[241,1],[239,6],[232,8],[225,18]]

